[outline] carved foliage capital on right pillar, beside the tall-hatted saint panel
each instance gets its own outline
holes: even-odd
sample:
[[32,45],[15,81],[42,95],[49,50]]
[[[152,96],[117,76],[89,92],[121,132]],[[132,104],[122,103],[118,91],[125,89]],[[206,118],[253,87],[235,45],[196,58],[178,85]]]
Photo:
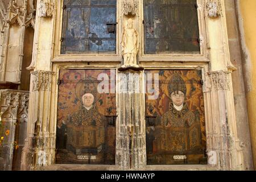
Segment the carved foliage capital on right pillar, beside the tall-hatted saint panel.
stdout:
[[230,72],[217,71],[209,72],[210,88],[212,90],[230,90]]

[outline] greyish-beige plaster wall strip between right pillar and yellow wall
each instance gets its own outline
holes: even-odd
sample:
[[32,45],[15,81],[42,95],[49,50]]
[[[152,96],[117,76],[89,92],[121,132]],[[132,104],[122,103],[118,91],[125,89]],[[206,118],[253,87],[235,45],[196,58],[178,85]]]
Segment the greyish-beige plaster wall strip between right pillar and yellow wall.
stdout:
[[253,169],[253,161],[251,154],[248,115],[247,110],[245,109],[247,104],[245,96],[245,85],[243,82],[242,55],[240,46],[241,44],[239,38],[239,27],[236,15],[235,0],[225,0],[225,10],[226,23],[228,27],[230,60],[232,61],[232,64],[237,68],[237,71],[232,73],[237,133],[238,138],[244,144],[244,169],[251,170]]

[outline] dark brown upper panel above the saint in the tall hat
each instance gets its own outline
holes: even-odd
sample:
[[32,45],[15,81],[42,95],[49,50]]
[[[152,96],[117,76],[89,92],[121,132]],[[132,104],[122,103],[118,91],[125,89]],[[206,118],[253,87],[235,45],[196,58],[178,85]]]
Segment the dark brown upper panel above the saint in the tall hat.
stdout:
[[144,53],[200,53],[196,0],[144,0]]

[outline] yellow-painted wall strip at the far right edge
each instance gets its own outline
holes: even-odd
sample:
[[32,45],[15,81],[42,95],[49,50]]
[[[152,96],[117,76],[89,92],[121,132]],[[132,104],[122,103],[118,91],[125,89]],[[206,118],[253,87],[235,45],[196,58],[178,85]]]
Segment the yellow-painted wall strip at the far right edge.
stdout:
[[254,168],[256,166],[256,36],[255,36],[255,6],[256,1],[238,0],[237,19],[240,26],[241,54],[243,78],[247,100],[247,113],[250,124],[251,147],[253,152]]

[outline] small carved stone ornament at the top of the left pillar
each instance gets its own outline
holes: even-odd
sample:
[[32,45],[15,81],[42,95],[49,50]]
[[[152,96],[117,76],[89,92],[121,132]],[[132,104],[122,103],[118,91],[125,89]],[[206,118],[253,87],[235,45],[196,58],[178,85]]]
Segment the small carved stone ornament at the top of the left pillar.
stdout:
[[55,3],[53,0],[41,0],[39,4],[40,17],[52,17]]

